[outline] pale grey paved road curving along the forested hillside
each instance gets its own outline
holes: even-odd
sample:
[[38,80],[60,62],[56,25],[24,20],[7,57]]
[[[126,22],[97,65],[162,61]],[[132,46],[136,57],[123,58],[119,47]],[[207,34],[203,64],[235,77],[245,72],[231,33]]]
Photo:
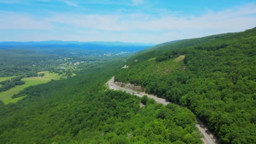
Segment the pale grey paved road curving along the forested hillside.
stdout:
[[[128,93],[135,94],[139,97],[147,95],[149,98],[155,99],[156,102],[158,102],[160,104],[163,104],[163,105],[167,105],[167,104],[171,103],[170,101],[167,101],[166,99],[161,99],[161,98],[158,98],[156,96],[149,95],[147,93],[137,92],[137,91],[133,91],[133,90],[115,85],[114,80],[115,80],[115,77],[112,77],[107,82],[110,89],[126,91]],[[197,119],[197,125],[196,126],[200,130],[200,132],[203,134],[204,137],[202,138],[202,140],[205,144],[219,144],[218,140],[213,135],[213,133],[211,133],[199,119]]]

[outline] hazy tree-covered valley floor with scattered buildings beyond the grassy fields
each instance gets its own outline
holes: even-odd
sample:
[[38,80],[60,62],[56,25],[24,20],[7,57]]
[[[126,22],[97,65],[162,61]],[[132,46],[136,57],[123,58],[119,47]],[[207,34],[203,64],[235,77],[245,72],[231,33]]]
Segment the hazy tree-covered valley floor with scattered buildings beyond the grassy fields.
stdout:
[[[0,49],[0,77],[8,76],[24,76],[24,77],[37,77],[42,74],[37,72],[49,71],[66,77],[71,76],[73,73],[79,73],[91,63],[110,61],[119,59],[123,55],[99,56],[97,53],[70,53],[61,50],[55,50],[54,53],[43,53],[49,48],[23,48],[14,47],[16,49]],[[58,47],[59,48],[59,47]],[[54,50],[50,49],[51,51]],[[109,50],[110,51],[110,50]],[[78,52],[78,50],[77,50]],[[104,51],[100,51],[104,53]],[[68,53],[68,54],[63,54]],[[77,64],[78,63],[78,64]]]

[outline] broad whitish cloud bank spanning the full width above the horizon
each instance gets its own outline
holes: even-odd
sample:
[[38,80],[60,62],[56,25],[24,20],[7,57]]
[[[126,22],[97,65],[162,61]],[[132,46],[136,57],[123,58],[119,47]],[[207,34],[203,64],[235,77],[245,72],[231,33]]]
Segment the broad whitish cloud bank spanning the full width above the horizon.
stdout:
[[[43,40],[48,38],[162,43],[253,28],[256,26],[256,5],[208,11],[199,16],[176,15],[175,12],[163,15],[52,13],[50,16],[35,19],[24,13],[0,11],[0,17],[0,29],[47,30],[48,33],[40,37]],[[63,33],[60,35],[59,32]]]

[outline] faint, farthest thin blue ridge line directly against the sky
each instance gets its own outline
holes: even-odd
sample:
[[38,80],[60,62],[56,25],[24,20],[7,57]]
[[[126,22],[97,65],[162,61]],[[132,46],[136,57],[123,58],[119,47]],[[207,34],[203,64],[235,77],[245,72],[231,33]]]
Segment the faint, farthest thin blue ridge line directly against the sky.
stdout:
[[109,45],[109,46],[128,46],[128,45],[147,45],[153,46],[154,43],[124,43],[124,42],[103,42],[103,41],[93,41],[93,42],[80,42],[80,41],[61,41],[61,40],[48,40],[48,41],[28,41],[28,42],[0,42],[1,46],[21,46],[21,45],[83,45],[83,44],[97,44],[97,45]]

